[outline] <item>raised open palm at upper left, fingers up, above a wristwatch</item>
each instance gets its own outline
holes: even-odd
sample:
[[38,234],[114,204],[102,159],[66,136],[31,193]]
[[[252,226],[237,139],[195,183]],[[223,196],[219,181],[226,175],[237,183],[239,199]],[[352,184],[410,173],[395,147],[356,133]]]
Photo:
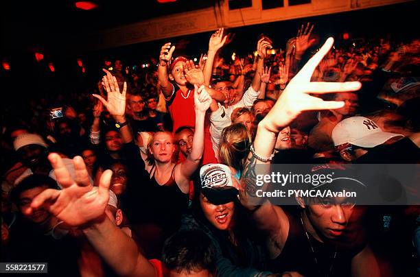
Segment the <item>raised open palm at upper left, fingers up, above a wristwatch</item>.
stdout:
[[106,93],[108,93],[108,101],[104,97],[94,94],[93,96],[99,99],[102,104],[109,111],[110,115],[123,116],[126,111],[126,93],[127,83],[124,82],[124,88],[122,93],[119,93],[119,86],[115,76],[111,75],[106,69],[102,69],[106,75],[102,77],[102,85],[105,87]]

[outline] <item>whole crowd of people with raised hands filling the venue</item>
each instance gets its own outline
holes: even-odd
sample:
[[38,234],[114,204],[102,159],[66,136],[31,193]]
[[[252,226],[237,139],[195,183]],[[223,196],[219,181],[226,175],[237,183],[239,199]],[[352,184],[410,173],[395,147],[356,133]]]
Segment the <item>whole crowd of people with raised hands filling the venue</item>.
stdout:
[[253,202],[257,165],[419,162],[420,40],[314,32],[277,53],[261,35],[230,62],[220,28],[197,62],[168,42],[146,74],[115,60],[93,93],[31,101],[1,126],[2,261],[51,276],[419,274],[419,206]]

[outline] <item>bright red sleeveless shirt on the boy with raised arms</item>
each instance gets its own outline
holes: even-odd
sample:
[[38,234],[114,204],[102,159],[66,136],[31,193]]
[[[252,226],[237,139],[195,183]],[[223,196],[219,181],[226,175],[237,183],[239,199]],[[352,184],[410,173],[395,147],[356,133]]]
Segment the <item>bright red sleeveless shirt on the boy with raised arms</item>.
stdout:
[[[166,100],[167,110],[169,111],[172,122],[173,122],[173,132],[175,133],[178,128],[183,126],[188,126],[195,128],[196,126],[196,112],[194,110],[194,90],[189,90],[187,94],[174,86],[174,93],[169,99]],[[208,115],[205,119],[205,149],[202,154],[202,164],[206,165],[207,163],[217,163],[218,161],[215,158],[213,145],[211,143],[210,136],[210,120]]]

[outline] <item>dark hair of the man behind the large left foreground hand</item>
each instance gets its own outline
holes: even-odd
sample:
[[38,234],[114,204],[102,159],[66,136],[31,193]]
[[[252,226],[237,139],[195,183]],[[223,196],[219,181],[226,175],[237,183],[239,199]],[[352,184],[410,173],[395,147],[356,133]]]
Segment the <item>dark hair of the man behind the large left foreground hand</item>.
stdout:
[[32,174],[19,182],[19,184],[10,191],[10,200],[12,200],[16,206],[19,206],[19,196],[23,193],[23,191],[28,191],[40,186],[47,186],[48,189],[58,189],[57,182],[53,178],[39,174]]

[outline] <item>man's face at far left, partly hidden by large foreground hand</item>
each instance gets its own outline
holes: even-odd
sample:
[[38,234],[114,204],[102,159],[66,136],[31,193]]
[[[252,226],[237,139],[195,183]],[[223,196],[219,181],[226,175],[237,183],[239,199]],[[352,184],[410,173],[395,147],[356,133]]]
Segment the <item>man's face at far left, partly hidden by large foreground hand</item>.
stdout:
[[21,213],[25,217],[25,219],[34,222],[35,224],[43,224],[48,219],[51,218],[51,214],[48,213],[43,208],[40,208],[38,210],[34,210],[32,213],[30,213],[30,206],[32,203],[32,200],[34,198],[45,191],[47,189],[47,186],[38,186],[34,189],[28,189],[27,191],[23,191],[21,195],[19,195],[19,210],[21,210]]

